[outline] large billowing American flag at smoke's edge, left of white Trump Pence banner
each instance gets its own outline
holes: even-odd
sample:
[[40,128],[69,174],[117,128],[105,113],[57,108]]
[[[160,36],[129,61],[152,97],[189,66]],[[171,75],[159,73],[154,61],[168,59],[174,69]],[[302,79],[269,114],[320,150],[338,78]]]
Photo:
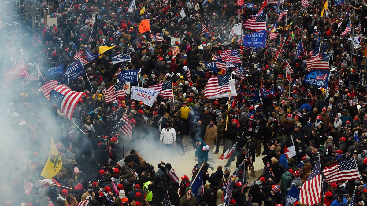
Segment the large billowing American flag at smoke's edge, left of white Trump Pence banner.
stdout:
[[75,107],[83,96],[84,92],[73,91],[65,84],[61,84],[52,89],[50,100],[72,120]]

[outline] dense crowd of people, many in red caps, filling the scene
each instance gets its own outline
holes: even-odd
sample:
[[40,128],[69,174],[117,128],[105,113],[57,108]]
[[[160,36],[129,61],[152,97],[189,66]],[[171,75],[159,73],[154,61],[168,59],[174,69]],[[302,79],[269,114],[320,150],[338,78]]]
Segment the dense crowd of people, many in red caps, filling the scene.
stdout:
[[[20,61],[28,67],[36,63],[43,76],[39,81],[30,81],[25,88],[21,87],[21,80],[1,81],[1,131],[7,139],[7,149],[1,152],[1,205],[75,206],[89,200],[92,206],[168,206],[168,194],[171,205],[215,206],[224,203],[223,182],[229,182],[233,186],[228,197],[231,206],[279,206],[286,205],[292,185],[302,187],[317,161],[325,168],[354,158],[360,180],[330,184],[324,181],[321,203],[347,206],[356,187],[355,204],[364,206],[367,41],[363,36],[367,36],[367,1],[355,1],[338,6],[329,2],[323,17],[320,13],[324,0],[312,1],[307,7],[292,0],[283,4],[268,2],[265,6],[265,1],[248,0],[244,7],[229,0],[136,0],[131,12],[128,10],[132,1],[48,2],[48,11],[61,8],[57,25],[41,23],[33,37],[19,40],[18,48],[22,49],[17,53],[17,62],[8,57],[2,60],[6,69]],[[235,24],[246,22],[261,10],[268,15],[269,35],[277,21],[277,11],[285,7],[287,15],[277,23],[286,26],[292,22],[291,32],[279,34],[276,40],[267,38],[266,47],[247,50],[241,37],[228,37]],[[181,19],[182,9],[186,16]],[[86,20],[92,14],[101,18],[90,25]],[[143,19],[150,19],[151,31],[141,34],[138,27]],[[210,25],[205,31],[201,31],[203,22]],[[349,22],[352,31],[341,36]],[[162,41],[152,40],[157,33],[163,33]],[[249,33],[252,32],[244,29],[244,34]],[[353,33],[362,36],[360,43],[351,42]],[[180,39],[173,45],[179,52],[174,52],[171,38]],[[309,72],[306,59],[311,57],[297,54],[301,40],[307,54],[320,44],[320,52],[332,54],[328,88],[305,84]],[[89,49],[98,54],[101,46],[114,48],[86,63],[83,78],[68,84],[62,76],[47,74],[48,69],[62,63],[65,70],[80,51]],[[232,74],[237,96],[230,101],[228,97],[205,98],[208,79],[226,72],[212,71],[206,63],[225,49],[239,52],[239,64],[246,75]],[[118,80],[115,74],[120,64],[112,64],[112,58],[124,50],[131,52],[126,70],[141,70],[144,81],[139,81],[139,86],[148,88],[172,80],[174,102],[157,97],[149,107],[132,100],[129,94],[111,103],[104,101],[106,89]],[[287,59],[293,70],[291,82],[286,80]],[[73,122],[39,90],[45,82],[55,79],[85,93],[75,109]],[[263,104],[248,102],[240,95],[257,90],[265,91],[261,92]],[[357,106],[350,106],[353,99],[357,99]],[[131,139],[116,127],[124,114],[130,119],[125,124],[132,125]],[[51,137],[62,159],[62,168],[52,181],[63,187],[38,181],[44,179],[41,171],[48,159]],[[289,137],[297,153],[291,158],[284,150]],[[184,139],[195,150],[197,164],[188,166],[193,167],[192,174],[172,176],[178,162],[147,162],[138,153],[144,150],[145,142],[167,155],[188,155],[185,148],[187,152],[189,146],[183,145]],[[237,147],[233,154],[215,169],[213,154],[224,154],[234,144]],[[264,158],[259,159],[260,155]],[[245,181],[230,179],[235,171],[229,166],[239,167],[243,161],[247,170]],[[264,163],[258,175],[251,163],[255,161]],[[197,198],[189,186],[200,168],[204,170],[204,192]],[[256,180],[247,182],[248,175]],[[25,192],[25,181],[32,183],[29,194]]]

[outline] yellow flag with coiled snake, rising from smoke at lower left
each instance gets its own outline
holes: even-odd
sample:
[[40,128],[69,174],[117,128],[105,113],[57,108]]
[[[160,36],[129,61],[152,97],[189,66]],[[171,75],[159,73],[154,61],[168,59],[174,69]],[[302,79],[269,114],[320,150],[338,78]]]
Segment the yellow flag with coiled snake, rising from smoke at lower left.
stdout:
[[54,138],[51,137],[51,147],[50,154],[48,155],[48,159],[45,167],[41,172],[41,176],[50,179],[54,177],[62,167],[62,161],[54,142]]

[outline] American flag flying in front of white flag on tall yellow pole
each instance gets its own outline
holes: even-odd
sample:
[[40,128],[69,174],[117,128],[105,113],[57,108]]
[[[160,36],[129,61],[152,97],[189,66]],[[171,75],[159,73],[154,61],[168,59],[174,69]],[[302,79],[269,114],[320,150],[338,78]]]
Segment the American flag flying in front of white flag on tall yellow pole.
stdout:
[[230,92],[229,78],[230,74],[211,77],[204,89],[205,98],[209,98],[220,93]]

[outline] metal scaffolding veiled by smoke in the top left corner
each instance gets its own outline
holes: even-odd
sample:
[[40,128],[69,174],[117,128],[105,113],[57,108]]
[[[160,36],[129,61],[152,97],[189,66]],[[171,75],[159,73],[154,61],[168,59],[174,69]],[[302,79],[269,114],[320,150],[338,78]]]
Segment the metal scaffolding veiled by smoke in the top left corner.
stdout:
[[41,5],[36,0],[0,1],[0,38],[30,35],[40,27]]

